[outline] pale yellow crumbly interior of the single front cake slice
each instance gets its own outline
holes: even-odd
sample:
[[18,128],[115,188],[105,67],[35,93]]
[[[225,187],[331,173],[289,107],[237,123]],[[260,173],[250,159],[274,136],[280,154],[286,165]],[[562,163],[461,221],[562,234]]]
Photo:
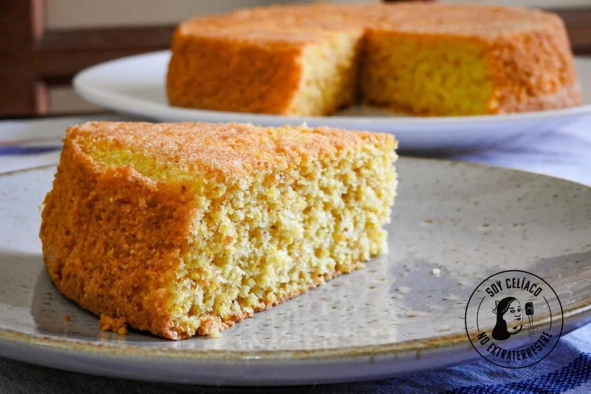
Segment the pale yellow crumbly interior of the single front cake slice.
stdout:
[[[255,145],[281,157],[282,146],[314,132],[258,128]],[[102,167],[131,167],[156,184],[186,188],[194,204],[190,232],[166,299],[171,326],[178,337],[189,337],[217,336],[235,321],[384,252],[382,225],[389,222],[397,183],[396,142],[372,135],[318,156],[287,155],[276,166],[268,163],[240,177],[212,174],[116,139],[79,144]]]

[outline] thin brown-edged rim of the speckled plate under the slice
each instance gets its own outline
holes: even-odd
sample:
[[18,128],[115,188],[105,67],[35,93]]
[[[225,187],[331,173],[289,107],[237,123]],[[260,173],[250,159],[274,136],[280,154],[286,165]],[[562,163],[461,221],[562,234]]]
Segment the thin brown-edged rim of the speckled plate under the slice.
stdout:
[[[452,159],[417,157],[413,155],[401,155],[400,158],[420,161],[447,162],[452,165],[467,165],[483,170],[522,172],[535,177],[552,178],[575,184],[587,191],[591,191],[591,185],[541,174],[540,172],[517,170],[514,168],[500,167],[483,163],[467,162]],[[4,177],[35,170],[44,170],[56,167],[55,164],[40,165],[32,168],[23,168],[0,173],[0,180]],[[82,308],[82,307],[80,307]],[[85,310],[84,308],[82,308]],[[86,311],[86,310],[85,310]],[[563,307],[563,336],[582,325],[580,321],[591,321],[591,294],[589,297],[579,300],[574,304]],[[578,318],[577,318],[578,317]],[[577,324],[578,323],[578,324]],[[146,334],[150,335],[150,334]],[[410,353],[440,353],[443,351],[458,350],[462,345],[469,345],[465,331],[456,334],[435,336],[430,338],[391,342],[384,344],[369,344],[364,346],[345,346],[322,349],[294,349],[294,350],[228,350],[228,349],[178,349],[174,347],[161,348],[158,346],[144,346],[138,344],[121,343],[114,341],[93,342],[83,338],[64,338],[44,334],[22,333],[10,328],[0,327],[0,344],[3,342],[25,344],[37,349],[73,351],[85,356],[117,356],[124,359],[136,359],[137,357],[151,357],[167,360],[190,360],[191,362],[212,362],[222,360],[224,362],[298,362],[298,361],[335,361],[345,359],[359,359],[362,357],[401,357]]]

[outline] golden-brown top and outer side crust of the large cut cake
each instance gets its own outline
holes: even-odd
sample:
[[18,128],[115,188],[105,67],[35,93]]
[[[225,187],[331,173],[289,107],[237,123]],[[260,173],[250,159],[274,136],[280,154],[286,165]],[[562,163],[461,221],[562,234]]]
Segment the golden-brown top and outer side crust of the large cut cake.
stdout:
[[290,107],[303,89],[303,48],[343,31],[365,31],[360,43],[372,31],[480,41],[494,83],[483,113],[580,103],[570,44],[557,15],[437,3],[271,6],[184,22],[174,35],[168,99],[190,108],[307,115]]

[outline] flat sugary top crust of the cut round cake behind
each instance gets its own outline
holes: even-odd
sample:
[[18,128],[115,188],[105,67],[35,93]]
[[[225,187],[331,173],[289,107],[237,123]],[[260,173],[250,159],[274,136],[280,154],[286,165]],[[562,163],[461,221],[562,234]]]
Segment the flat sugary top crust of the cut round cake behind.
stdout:
[[187,37],[303,43],[330,33],[368,29],[493,40],[503,35],[556,27],[562,27],[557,15],[535,9],[434,2],[240,9],[183,22],[178,32]]

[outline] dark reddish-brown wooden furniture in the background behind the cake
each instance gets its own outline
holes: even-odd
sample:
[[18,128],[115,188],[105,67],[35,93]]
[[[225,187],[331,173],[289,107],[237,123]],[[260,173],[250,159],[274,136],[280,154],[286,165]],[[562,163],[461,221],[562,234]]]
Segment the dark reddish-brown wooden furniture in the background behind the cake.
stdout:
[[[97,4],[97,6],[100,6]],[[591,54],[591,7],[552,9],[576,54]],[[0,117],[48,113],[48,86],[113,58],[167,48],[173,25],[47,30],[43,0],[0,1]]]

